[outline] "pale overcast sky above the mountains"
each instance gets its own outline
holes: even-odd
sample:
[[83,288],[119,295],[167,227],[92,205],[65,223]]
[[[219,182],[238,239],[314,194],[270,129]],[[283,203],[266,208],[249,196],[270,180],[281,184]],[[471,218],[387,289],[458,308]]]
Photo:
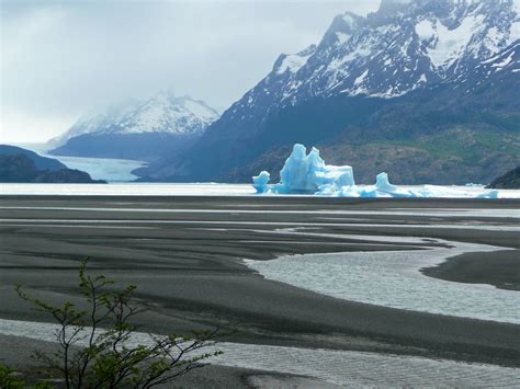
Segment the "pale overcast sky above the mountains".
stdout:
[[0,142],[38,142],[82,114],[160,90],[223,110],[281,53],[380,0],[0,0]]

